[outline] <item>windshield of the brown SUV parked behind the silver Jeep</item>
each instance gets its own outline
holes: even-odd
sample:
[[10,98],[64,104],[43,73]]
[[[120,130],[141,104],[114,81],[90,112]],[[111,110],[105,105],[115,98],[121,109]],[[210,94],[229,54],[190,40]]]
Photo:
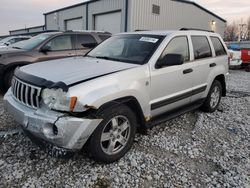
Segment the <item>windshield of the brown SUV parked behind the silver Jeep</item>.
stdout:
[[35,37],[32,37],[29,40],[24,40],[21,42],[17,42],[13,44],[12,48],[18,48],[18,49],[24,49],[24,50],[31,50],[41,44],[43,41],[45,41],[47,38],[49,38],[51,35],[54,35],[52,33],[46,33],[46,34],[40,34]]

